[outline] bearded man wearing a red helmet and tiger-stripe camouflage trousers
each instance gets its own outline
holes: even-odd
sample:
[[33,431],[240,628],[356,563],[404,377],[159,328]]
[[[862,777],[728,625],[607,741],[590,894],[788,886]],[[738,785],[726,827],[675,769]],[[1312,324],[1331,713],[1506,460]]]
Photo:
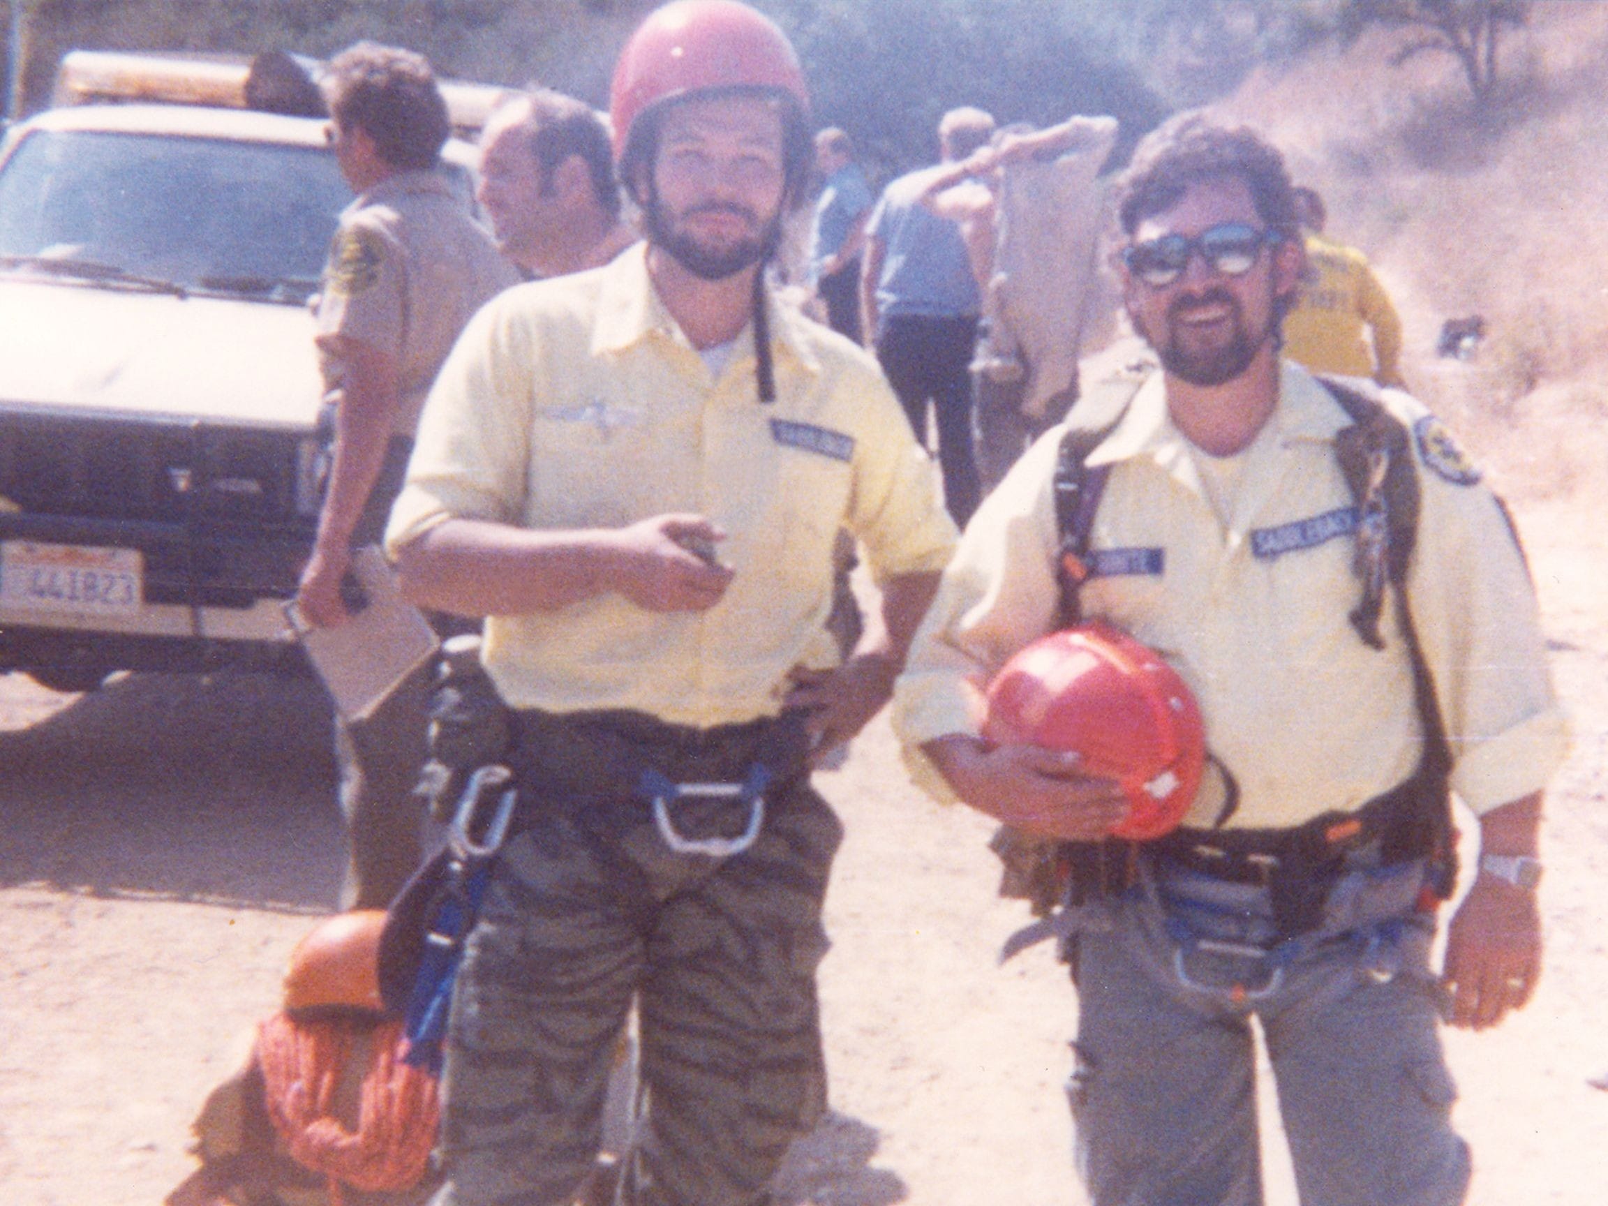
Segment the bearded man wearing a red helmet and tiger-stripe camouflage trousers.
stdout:
[[[841,827],[809,764],[888,698],[955,532],[870,355],[765,289],[806,106],[753,10],[653,13],[611,96],[645,244],[494,301],[426,407],[389,545],[421,601],[487,617],[521,781],[453,1002],[441,1206],[571,1201],[634,1000],[626,1201],[762,1203],[825,1101]],[[841,664],[839,527],[884,600]]]

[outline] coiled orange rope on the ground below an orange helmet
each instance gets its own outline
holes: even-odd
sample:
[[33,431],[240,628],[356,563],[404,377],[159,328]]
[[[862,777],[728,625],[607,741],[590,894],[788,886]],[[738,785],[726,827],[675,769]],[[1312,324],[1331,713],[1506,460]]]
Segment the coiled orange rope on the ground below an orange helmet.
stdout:
[[[362,1032],[371,1036],[357,1130],[334,1116],[343,1069]],[[269,1116],[291,1158],[330,1179],[330,1206],[341,1187],[405,1190],[425,1175],[436,1145],[441,1101],[436,1077],[402,1063],[402,1023],[370,1029],[360,1019],[296,1019],[275,1013],[257,1029],[257,1058]]]

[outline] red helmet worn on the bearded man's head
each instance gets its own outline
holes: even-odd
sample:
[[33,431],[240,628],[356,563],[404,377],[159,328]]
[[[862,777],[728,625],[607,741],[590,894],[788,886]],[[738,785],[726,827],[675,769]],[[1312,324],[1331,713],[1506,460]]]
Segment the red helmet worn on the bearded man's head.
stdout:
[[[722,88],[756,88],[788,101],[786,122],[806,135],[809,90],[793,43],[736,0],[675,0],[648,14],[614,66],[609,124],[621,178],[643,153],[640,119],[664,101]],[[790,153],[794,138],[790,138]]]

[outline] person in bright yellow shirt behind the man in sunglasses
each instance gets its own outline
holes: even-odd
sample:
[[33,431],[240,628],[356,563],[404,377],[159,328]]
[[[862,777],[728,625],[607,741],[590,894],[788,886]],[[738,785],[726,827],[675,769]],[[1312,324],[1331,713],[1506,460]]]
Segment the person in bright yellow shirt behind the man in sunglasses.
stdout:
[[[1317,190],[1296,188],[1307,273],[1285,315],[1285,355],[1315,373],[1372,376],[1405,388],[1402,322],[1373,267],[1356,248],[1323,238],[1327,211]],[[1367,328],[1367,336],[1364,336]]]

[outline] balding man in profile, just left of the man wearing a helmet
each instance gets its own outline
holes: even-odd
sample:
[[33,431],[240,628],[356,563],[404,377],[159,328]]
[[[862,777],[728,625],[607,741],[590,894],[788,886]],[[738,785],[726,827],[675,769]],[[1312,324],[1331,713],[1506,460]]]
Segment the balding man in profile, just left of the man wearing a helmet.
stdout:
[[548,88],[513,96],[487,119],[476,198],[526,280],[600,267],[635,241],[619,217],[608,127]]

